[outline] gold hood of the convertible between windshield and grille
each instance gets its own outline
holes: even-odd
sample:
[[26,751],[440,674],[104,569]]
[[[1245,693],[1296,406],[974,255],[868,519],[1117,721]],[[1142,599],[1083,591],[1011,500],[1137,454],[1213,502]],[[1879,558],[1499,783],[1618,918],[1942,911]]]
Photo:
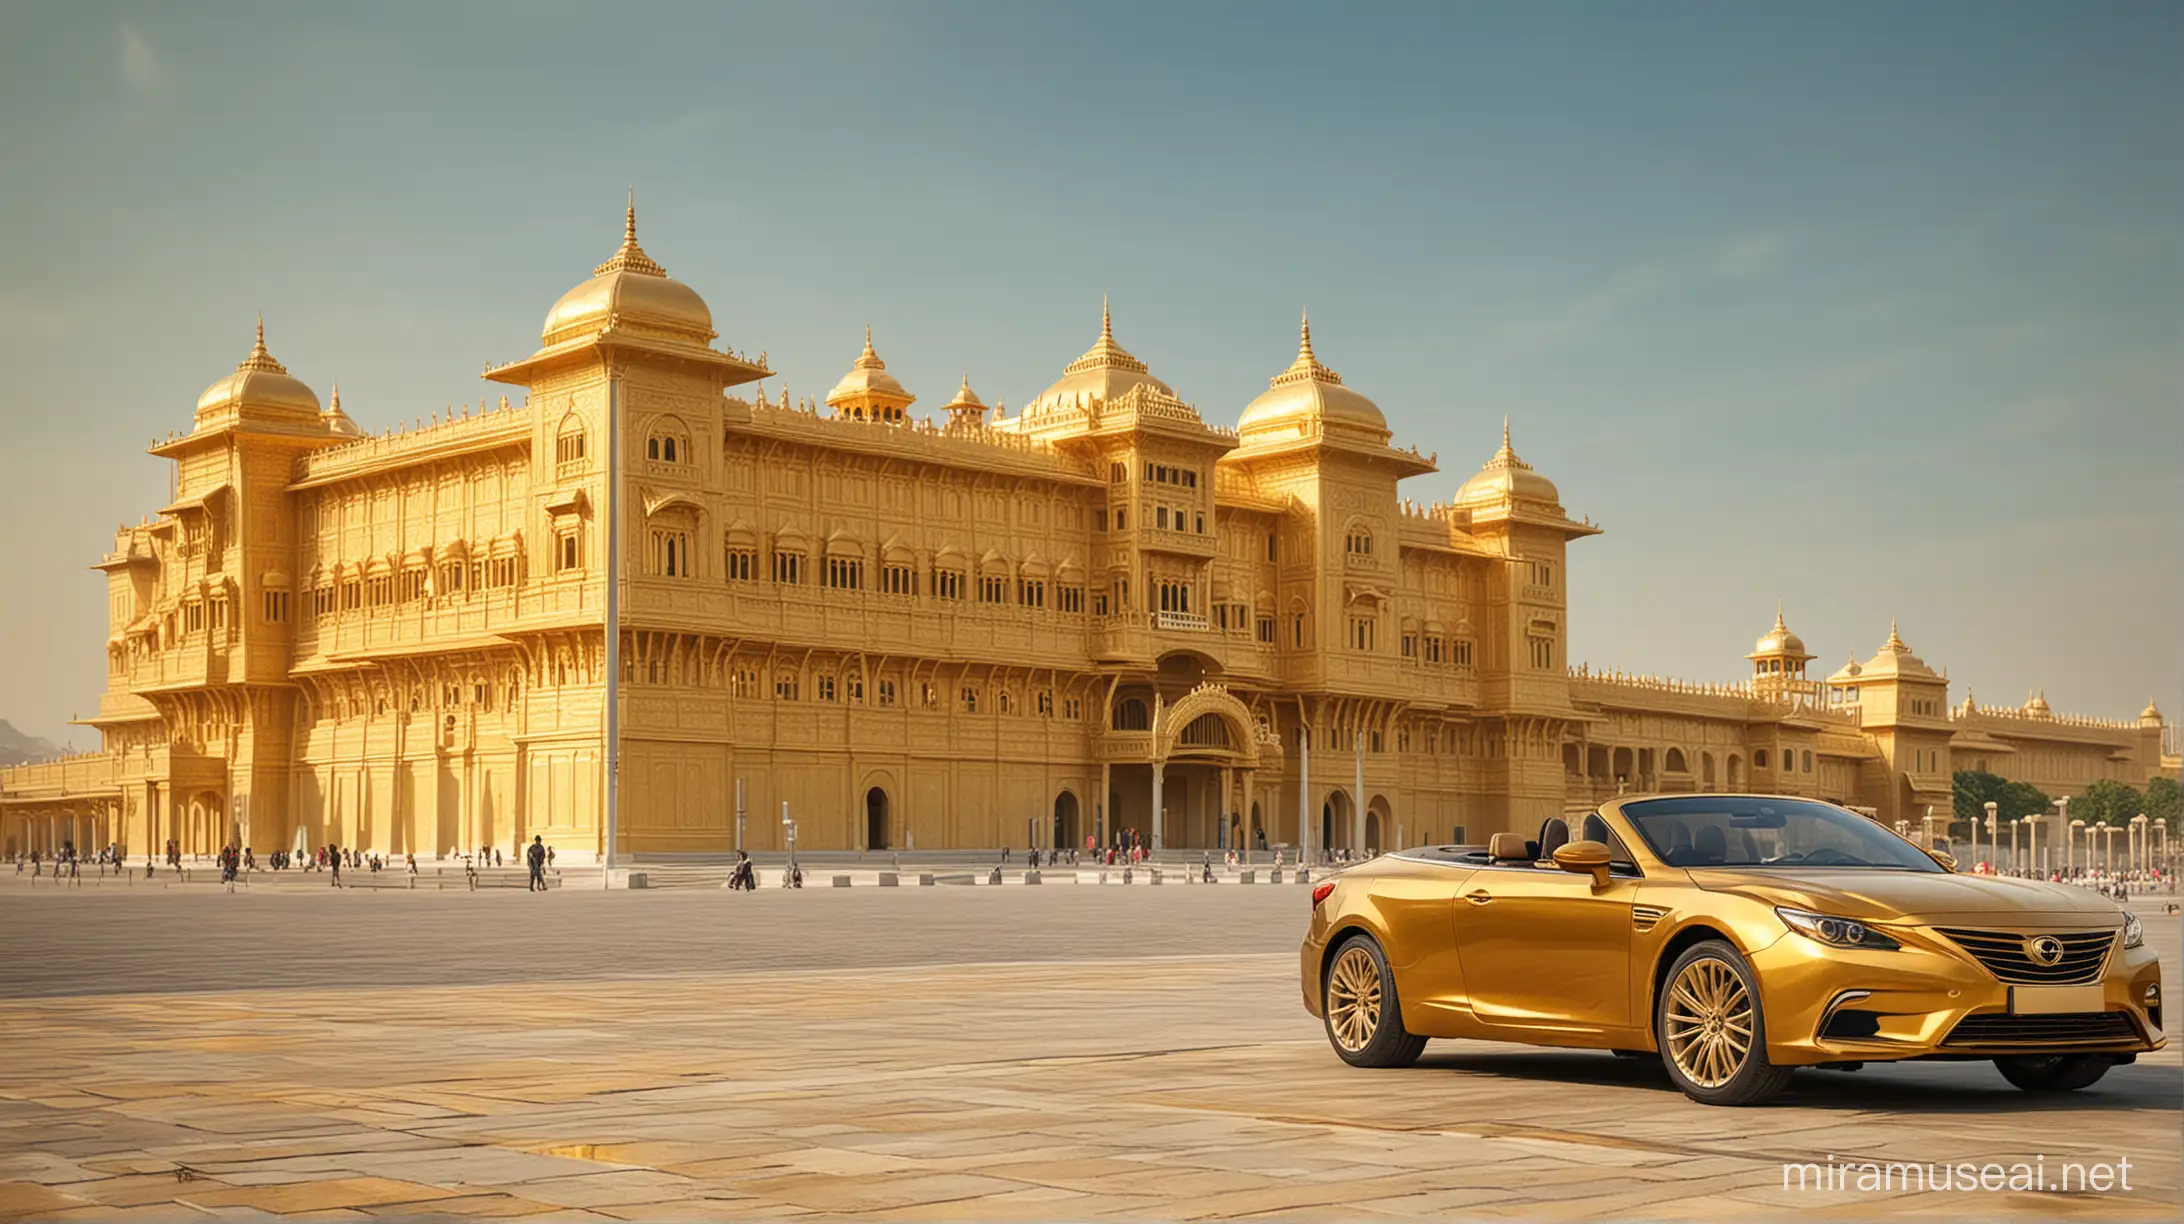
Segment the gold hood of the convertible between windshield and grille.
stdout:
[[1859,868],[1697,868],[1690,883],[1734,892],[1767,905],[1789,905],[1861,922],[2011,922],[2027,918],[2121,922],[2105,896],[2064,883],[1955,872],[1887,872]]

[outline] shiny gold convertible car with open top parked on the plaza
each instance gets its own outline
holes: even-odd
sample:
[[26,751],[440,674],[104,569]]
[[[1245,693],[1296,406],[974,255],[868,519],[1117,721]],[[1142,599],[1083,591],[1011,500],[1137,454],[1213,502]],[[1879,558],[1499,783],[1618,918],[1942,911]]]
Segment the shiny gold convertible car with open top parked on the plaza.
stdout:
[[2138,918],[2081,887],[1955,874],[1835,804],[1623,798],[1572,837],[1382,855],[1313,887],[1304,1005],[1354,1067],[1426,1038],[1658,1051],[1697,1102],[1793,1067],[1981,1058],[2066,1091],[2162,1047]]

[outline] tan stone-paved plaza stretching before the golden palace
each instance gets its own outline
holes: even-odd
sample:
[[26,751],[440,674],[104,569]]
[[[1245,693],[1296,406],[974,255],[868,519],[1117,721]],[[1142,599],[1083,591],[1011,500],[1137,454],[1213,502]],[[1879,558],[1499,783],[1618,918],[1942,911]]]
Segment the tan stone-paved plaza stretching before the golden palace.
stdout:
[[[2073,1097],[1922,1064],[1808,1073],[1762,1110],[1603,1054],[1435,1043],[1352,1071],[1295,1001],[1299,916],[1273,887],[4,890],[0,1215],[2175,1215],[2175,1045]],[[2175,981],[2177,925],[2149,927]],[[618,970],[640,944],[695,970]],[[1830,1154],[2127,1156],[2134,1191],[1780,1189]]]

